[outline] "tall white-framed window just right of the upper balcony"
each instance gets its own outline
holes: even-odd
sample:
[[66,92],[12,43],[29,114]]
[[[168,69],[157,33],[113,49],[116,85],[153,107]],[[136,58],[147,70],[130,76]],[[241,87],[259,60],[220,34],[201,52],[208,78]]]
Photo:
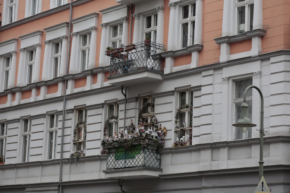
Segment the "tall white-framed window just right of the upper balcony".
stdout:
[[195,3],[182,6],[181,9],[181,47],[193,45],[195,27]]

